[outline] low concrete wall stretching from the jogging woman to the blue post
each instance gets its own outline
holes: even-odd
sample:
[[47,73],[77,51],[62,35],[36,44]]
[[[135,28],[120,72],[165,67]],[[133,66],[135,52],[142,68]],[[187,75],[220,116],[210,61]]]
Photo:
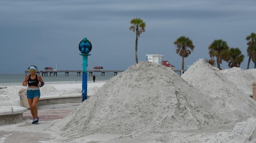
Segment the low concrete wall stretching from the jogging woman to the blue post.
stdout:
[[[90,96],[87,96],[89,98]],[[79,103],[82,102],[81,95],[68,95],[61,97],[43,97],[40,98],[37,105],[49,105],[49,104],[65,104],[65,103]]]

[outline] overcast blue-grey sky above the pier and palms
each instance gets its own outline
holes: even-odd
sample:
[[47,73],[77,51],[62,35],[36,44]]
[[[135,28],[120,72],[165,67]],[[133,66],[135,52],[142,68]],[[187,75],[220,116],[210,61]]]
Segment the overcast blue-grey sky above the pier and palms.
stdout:
[[135,32],[129,27],[136,17],[146,22],[139,61],[162,54],[181,69],[173,42],[188,36],[195,49],[185,58],[185,69],[210,58],[214,39],[240,48],[241,68],[247,66],[245,37],[256,32],[256,0],[0,0],[0,73],[24,73],[32,64],[55,68],[55,63],[57,70],[82,70],[78,44],[84,37],[93,45],[88,70],[126,70],[135,63]]

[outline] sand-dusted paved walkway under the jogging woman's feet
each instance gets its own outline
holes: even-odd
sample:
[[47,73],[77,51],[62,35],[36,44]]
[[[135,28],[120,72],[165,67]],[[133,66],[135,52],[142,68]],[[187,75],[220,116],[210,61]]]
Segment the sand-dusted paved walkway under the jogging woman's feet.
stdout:
[[55,104],[38,107],[39,123],[32,124],[30,110],[23,113],[24,120],[17,124],[0,125],[0,143],[39,143],[55,139],[58,134],[49,127],[67,116],[81,103]]

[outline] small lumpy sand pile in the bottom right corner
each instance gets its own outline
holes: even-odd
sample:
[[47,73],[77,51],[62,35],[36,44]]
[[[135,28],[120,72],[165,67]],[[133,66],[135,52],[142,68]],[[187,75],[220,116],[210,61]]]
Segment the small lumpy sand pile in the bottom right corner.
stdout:
[[208,143],[255,143],[256,119],[237,123],[232,132],[218,132]]

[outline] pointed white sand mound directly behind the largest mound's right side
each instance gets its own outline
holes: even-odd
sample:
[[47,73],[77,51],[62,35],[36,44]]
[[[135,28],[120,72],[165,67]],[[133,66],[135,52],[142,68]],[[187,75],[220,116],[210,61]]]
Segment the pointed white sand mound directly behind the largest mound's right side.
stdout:
[[217,114],[226,122],[240,122],[256,116],[256,104],[243,91],[237,89],[218,68],[212,67],[205,59],[197,60],[181,76],[189,84],[204,93]]

